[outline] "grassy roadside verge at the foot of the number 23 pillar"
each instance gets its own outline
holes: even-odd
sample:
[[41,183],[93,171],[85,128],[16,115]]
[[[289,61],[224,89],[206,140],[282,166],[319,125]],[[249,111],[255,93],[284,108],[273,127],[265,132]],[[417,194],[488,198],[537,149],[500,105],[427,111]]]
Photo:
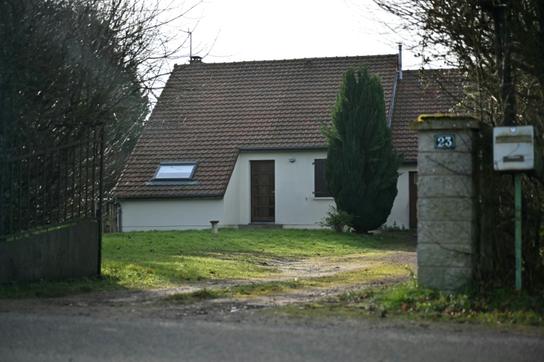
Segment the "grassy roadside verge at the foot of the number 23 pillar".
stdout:
[[544,327],[544,296],[518,293],[511,288],[443,295],[418,288],[416,282],[411,281],[343,293],[318,303],[288,305],[273,312]]

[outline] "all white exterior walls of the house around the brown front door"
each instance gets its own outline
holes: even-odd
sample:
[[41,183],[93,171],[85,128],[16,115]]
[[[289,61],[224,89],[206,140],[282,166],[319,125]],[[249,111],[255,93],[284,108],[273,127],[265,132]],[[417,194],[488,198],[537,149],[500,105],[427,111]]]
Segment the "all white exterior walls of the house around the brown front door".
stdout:
[[[320,228],[319,221],[331,197],[314,197],[314,159],[326,158],[325,150],[252,151],[239,155],[223,199],[122,199],[123,231],[208,229],[211,220],[220,227],[251,222],[251,160],[274,160],[276,174],[276,223],[284,228]],[[295,158],[295,162],[290,162]],[[387,225],[409,226],[409,171],[403,165],[397,184],[398,194]]]

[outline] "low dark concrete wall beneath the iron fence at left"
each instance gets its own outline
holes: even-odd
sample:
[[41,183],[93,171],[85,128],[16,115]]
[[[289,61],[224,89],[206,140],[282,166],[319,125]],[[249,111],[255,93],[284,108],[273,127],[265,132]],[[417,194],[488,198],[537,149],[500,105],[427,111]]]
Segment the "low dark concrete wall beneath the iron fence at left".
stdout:
[[98,274],[98,222],[0,243],[0,284]]

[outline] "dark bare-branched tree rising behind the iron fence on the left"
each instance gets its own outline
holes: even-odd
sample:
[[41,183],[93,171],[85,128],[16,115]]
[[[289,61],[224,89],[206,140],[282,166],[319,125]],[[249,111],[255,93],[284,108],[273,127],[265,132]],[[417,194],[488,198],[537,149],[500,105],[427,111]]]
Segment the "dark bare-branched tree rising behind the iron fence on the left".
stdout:
[[[198,4],[198,3],[197,3]],[[195,5],[196,6],[196,5]],[[40,149],[106,127],[106,157],[123,163],[152,101],[184,55],[161,2],[0,1],[0,148]],[[183,38],[187,36],[182,34]],[[120,166],[108,164],[113,186]]]

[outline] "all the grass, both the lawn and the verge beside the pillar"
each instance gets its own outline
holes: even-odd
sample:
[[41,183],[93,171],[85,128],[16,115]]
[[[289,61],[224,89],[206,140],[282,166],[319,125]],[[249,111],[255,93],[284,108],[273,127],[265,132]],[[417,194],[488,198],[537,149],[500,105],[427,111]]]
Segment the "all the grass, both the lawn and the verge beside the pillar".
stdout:
[[[64,281],[35,281],[0,286],[0,298],[47,298],[76,293],[98,293],[180,286],[197,281],[243,279],[252,284],[204,288],[175,294],[167,303],[226,297],[251,297],[305,287],[372,284],[407,274],[404,265],[387,262],[398,251],[413,252],[412,233],[378,235],[334,233],[329,230],[209,230],[149,231],[106,234],[103,238],[102,276]],[[278,261],[327,258],[331,264],[361,257],[371,267],[331,276],[259,281],[278,273],[266,266]],[[516,293],[509,288],[442,295],[418,288],[415,280],[340,294],[304,305],[276,308],[288,315],[399,317],[418,321],[477,322],[493,325],[544,327],[544,294]]]

